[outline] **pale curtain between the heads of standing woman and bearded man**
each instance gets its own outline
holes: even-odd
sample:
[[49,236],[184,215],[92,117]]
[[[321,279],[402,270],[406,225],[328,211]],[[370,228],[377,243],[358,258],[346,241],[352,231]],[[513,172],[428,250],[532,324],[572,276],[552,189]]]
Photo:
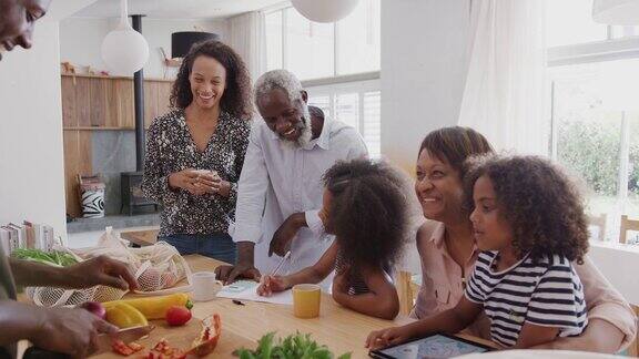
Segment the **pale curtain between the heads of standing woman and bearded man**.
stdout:
[[264,13],[252,11],[229,20],[229,45],[244,60],[253,81],[266,71]]

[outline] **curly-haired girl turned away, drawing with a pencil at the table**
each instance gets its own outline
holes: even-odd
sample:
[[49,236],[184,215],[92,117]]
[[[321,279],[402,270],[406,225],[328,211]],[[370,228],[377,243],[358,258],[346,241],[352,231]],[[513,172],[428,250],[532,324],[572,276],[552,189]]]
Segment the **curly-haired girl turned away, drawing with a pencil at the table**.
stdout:
[[407,229],[403,180],[381,162],[338,162],[324,175],[320,216],[335,242],[320,260],[287,276],[265,276],[262,296],[303,283],[320,283],[335,269],[333,299],[355,311],[393,319],[399,311],[389,276]]

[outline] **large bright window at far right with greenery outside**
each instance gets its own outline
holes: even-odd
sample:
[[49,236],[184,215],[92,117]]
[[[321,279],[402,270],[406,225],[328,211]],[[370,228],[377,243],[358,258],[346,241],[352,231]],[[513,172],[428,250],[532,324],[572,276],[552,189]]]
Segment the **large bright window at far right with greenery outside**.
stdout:
[[591,7],[548,2],[550,153],[585,181],[587,211],[606,216],[604,239],[617,242],[621,215],[639,218],[639,32],[595,23]]

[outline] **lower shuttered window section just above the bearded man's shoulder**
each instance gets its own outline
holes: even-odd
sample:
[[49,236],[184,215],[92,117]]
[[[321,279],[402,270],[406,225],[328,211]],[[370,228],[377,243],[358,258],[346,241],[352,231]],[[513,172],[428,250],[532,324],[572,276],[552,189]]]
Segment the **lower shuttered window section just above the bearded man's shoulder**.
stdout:
[[307,88],[308,104],[359,131],[372,158],[381,157],[379,81]]

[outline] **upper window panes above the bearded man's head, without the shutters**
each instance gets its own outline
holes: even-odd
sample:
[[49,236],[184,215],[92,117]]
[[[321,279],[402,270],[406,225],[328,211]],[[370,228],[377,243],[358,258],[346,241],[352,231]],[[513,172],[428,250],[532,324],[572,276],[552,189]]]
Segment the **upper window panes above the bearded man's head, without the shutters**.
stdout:
[[336,23],[317,23],[287,7],[266,14],[267,68],[300,80],[379,71],[381,0],[362,0]]

